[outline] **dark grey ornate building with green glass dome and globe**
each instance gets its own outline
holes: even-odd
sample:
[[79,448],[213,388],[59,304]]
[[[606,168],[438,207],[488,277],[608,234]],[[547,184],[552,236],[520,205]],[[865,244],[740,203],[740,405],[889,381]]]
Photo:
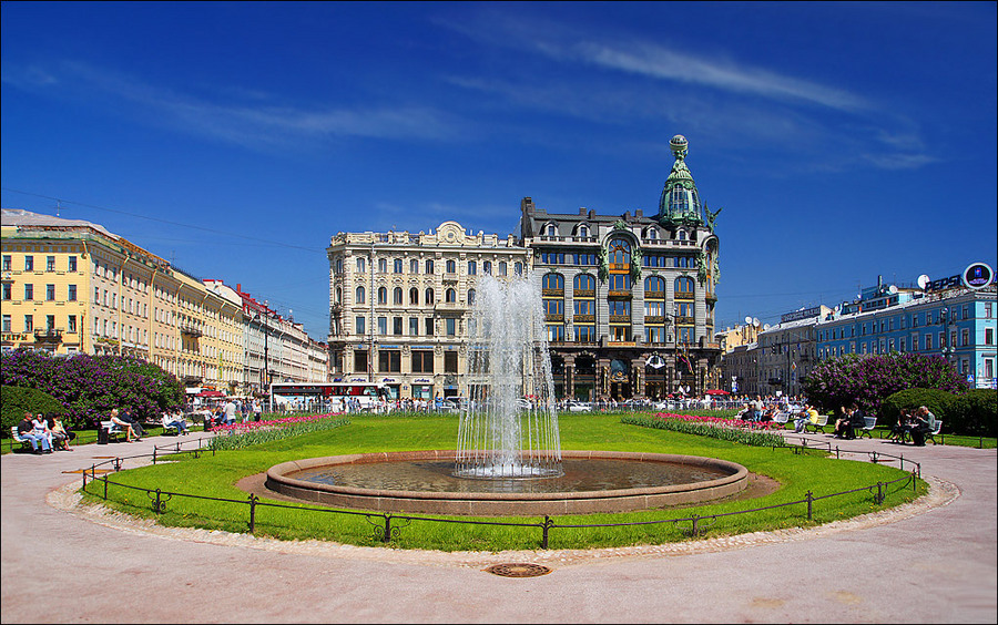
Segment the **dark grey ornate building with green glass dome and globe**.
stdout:
[[685,137],[670,146],[675,163],[654,215],[551,214],[530,197],[520,204],[559,397],[663,398],[699,395],[713,382],[720,211],[701,202]]

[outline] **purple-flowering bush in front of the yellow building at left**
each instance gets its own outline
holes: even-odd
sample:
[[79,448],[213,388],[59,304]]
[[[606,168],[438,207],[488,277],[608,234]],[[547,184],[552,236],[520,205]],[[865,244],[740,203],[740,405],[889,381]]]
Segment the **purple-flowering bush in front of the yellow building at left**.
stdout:
[[30,349],[6,351],[0,358],[0,383],[48,392],[73,427],[106,419],[113,408],[154,419],[184,402],[184,387],[173,375],[136,358],[85,354],[67,358]]

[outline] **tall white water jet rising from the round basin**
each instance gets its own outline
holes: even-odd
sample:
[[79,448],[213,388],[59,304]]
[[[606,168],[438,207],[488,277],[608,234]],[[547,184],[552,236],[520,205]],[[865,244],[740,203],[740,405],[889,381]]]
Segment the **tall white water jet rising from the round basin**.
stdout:
[[561,475],[540,289],[529,278],[491,276],[477,288],[469,325],[469,401],[461,408],[455,475]]

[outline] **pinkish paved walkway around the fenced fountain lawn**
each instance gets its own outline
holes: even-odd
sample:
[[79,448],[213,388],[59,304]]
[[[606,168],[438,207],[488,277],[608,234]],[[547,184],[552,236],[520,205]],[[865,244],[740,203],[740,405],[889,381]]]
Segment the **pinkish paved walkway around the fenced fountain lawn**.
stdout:
[[[995,450],[834,441],[844,458],[879,451],[920,462],[930,493],[811,530],[640,547],[442,553],[161,527],[79,503],[81,478],[71,471],[162,442],[3,455],[3,623],[998,619]],[[507,578],[483,571],[500,563],[551,573]]]

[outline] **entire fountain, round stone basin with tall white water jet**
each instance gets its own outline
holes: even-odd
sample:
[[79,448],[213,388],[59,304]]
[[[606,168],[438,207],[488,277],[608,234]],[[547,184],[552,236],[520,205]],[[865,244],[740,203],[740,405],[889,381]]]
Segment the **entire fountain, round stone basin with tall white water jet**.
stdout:
[[364,510],[546,515],[694,503],[747,485],[744,467],[713,458],[562,451],[539,288],[486,276],[477,289],[456,450],[294,460],[272,467],[266,486]]

